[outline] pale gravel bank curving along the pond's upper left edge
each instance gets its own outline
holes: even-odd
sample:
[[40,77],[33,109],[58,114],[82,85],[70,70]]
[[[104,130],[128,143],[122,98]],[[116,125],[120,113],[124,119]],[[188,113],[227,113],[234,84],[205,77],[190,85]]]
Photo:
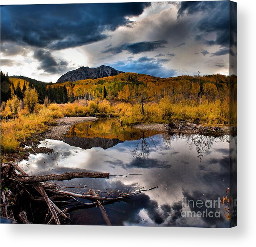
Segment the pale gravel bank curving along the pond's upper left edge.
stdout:
[[44,137],[54,140],[64,140],[65,134],[69,132],[72,125],[82,122],[92,122],[97,120],[97,117],[64,117],[58,120],[59,126],[54,126],[47,132]]

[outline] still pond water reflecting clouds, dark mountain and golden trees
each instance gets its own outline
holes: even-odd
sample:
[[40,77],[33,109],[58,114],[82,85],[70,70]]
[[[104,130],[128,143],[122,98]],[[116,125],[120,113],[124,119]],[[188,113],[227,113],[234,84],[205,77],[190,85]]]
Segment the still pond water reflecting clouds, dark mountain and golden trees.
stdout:
[[[31,155],[20,163],[29,174],[60,174],[71,171],[109,172],[110,179],[73,179],[60,186],[87,185],[108,196],[116,191],[145,187],[154,190],[105,205],[112,225],[228,227],[224,209],[220,218],[181,217],[181,204],[190,200],[218,200],[229,184],[228,137],[170,135],[122,126],[116,119],[72,126],[65,141],[45,140],[40,146],[52,154]],[[88,202],[88,201],[87,201]],[[105,225],[97,208],[77,205],[70,224]],[[139,223],[138,223],[139,222]]]

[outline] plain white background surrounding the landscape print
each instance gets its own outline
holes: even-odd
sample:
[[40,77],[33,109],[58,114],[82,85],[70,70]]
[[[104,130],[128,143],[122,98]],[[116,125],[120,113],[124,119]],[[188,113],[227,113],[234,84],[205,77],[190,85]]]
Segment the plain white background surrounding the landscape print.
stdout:
[[[36,3],[142,2],[40,0]],[[0,225],[1,246],[256,246],[255,24],[256,1],[238,2],[238,227],[232,229]],[[32,0],[0,0],[0,4]]]

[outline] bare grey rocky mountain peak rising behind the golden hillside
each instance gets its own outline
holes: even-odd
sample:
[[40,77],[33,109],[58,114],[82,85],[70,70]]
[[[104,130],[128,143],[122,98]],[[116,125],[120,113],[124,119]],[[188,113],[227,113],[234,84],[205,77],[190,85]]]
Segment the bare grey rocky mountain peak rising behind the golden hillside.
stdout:
[[101,77],[108,77],[113,75],[118,75],[120,73],[124,73],[121,70],[116,70],[110,66],[101,65],[97,68],[89,68],[87,67],[80,67],[76,70],[71,70],[64,75],[62,75],[58,80],[57,83],[62,82],[75,82],[77,80],[85,80],[85,79],[97,79]]

